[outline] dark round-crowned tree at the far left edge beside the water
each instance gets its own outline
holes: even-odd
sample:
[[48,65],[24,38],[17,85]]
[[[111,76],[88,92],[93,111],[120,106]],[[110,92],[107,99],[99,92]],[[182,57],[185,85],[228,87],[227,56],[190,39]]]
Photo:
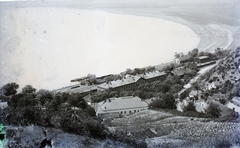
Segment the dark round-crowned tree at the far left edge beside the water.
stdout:
[[5,96],[15,95],[18,88],[19,85],[17,83],[8,83],[1,88],[1,93]]

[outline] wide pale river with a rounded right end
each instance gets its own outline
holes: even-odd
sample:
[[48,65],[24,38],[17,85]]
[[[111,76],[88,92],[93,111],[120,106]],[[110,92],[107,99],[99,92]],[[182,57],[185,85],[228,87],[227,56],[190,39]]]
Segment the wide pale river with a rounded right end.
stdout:
[[98,10],[4,8],[0,25],[0,85],[37,89],[169,62],[200,41],[182,24]]

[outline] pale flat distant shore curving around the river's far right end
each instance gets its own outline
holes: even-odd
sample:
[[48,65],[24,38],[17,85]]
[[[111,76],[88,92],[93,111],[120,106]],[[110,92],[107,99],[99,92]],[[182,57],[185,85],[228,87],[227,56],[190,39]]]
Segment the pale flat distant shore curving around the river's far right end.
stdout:
[[[152,9],[105,9],[112,13],[133,14],[161,18],[188,26],[201,40],[197,46],[200,51],[212,52],[217,48],[235,49],[239,46],[240,21],[231,15],[225,16],[224,11],[230,11],[231,6],[198,8],[197,6],[187,7],[167,7]],[[202,9],[202,10],[201,10]],[[219,9],[221,13],[207,14],[210,9]],[[237,6],[236,8],[237,9]],[[192,12],[191,12],[192,10]],[[206,12],[205,12],[206,11]],[[207,16],[209,15],[209,16]],[[235,20],[236,19],[236,20]],[[239,19],[238,19],[239,20]]]

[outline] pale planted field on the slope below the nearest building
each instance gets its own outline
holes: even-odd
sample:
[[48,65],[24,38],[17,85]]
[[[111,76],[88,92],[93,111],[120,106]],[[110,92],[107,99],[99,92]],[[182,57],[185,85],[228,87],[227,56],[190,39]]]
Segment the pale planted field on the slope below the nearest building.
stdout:
[[160,111],[146,110],[114,119],[109,127],[115,132],[126,134],[129,138],[145,139],[148,147],[212,147],[240,144],[240,123],[180,117]]

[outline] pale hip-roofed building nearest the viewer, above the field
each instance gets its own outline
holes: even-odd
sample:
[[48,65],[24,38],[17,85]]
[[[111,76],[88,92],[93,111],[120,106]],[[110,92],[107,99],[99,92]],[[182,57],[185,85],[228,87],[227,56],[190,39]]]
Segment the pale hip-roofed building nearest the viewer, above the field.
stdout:
[[114,97],[98,103],[97,116],[106,117],[127,115],[148,109],[148,104],[139,97]]

